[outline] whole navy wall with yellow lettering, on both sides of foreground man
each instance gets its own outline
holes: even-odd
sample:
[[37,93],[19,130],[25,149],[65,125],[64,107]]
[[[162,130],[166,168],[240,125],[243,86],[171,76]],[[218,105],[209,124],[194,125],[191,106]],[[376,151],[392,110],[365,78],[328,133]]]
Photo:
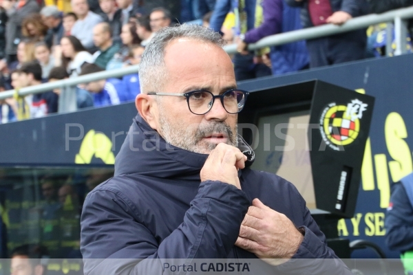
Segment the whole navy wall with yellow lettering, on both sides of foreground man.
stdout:
[[[384,243],[385,208],[392,182],[412,171],[412,64],[413,55],[406,55],[240,83],[241,89],[255,91],[319,79],[361,89],[376,98],[356,214],[353,219],[339,221],[338,229],[341,236],[350,240],[374,241],[394,258],[399,253],[390,252]],[[71,165],[113,164],[134,115],[134,104],[128,103],[0,125],[0,165],[21,164],[21,159],[28,166],[67,166],[67,159]],[[67,151],[62,144],[67,145]],[[91,149],[94,145],[96,148]],[[353,253],[360,257],[369,255],[374,256],[368,251]]]

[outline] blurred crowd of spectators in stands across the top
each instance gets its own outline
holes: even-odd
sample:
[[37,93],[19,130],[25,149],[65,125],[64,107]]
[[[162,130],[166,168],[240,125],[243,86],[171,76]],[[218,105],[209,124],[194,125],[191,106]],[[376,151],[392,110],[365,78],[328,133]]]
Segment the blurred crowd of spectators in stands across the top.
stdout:
[[[180,18],[142,0],[0,0],[0,91],[138,65],[153,35],[176,23],[204,25],[229,44],[238,81],[391,55],[385,24],[248,51],[272,34],[413,5],[413,0],[181,0]],[[410,33],[406,36],[411,51]],[[134,100],[138,73],[0,101],[0,123]]]

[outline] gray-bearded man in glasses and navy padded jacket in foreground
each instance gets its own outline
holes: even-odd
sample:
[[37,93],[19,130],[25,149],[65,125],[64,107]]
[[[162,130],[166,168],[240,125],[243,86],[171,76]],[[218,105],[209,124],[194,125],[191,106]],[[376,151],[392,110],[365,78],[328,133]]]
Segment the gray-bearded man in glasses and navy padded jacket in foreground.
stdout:
[[83,205],[85,274],[171,274],[171,259],[262,263],[251,274],[352,274],[293,184],[249,168],[255,155],[236,126],[248,93],[223,45],[199,25],[162,28],[147,45],[139,113],[114,177]]

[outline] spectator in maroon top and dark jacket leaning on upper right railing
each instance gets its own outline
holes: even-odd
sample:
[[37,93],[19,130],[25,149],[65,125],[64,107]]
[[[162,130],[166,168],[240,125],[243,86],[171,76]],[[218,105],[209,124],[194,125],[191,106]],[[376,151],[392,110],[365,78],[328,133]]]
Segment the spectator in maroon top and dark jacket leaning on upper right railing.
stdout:
[[[364,0],[286,0],[292,7],[301,7],[304,28],[332,23],[342,25],[353,17],[367,14]],[[356,30],[306,41],[310,67],[321,67],[364,58],[366,30]]]

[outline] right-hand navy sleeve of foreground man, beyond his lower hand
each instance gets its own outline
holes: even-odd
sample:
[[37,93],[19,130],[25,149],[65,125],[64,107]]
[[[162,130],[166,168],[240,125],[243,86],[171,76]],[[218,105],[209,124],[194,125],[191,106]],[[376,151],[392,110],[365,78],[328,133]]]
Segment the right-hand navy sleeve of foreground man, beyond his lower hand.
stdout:
[[326,236],[311,217],[303,197],[297,195],[304,216],[304,239],[293,258],[279,265],[277,270],[282,274],[352,274],[335,252],[328,248]]

